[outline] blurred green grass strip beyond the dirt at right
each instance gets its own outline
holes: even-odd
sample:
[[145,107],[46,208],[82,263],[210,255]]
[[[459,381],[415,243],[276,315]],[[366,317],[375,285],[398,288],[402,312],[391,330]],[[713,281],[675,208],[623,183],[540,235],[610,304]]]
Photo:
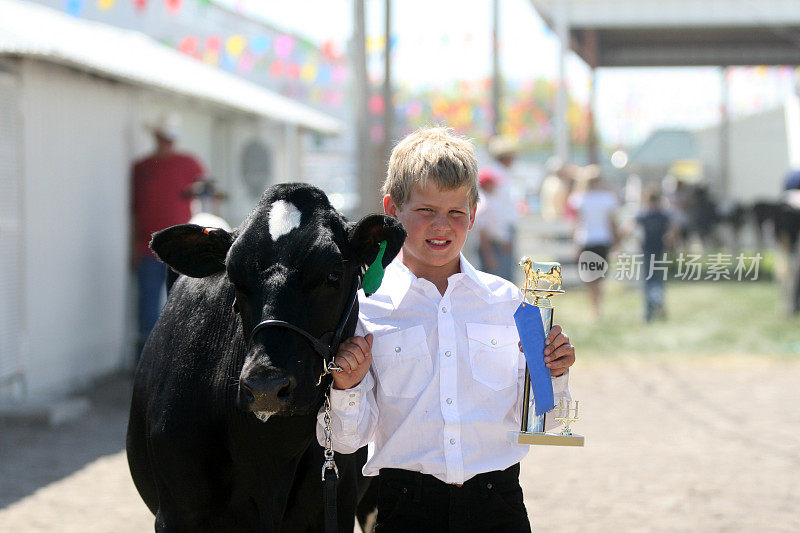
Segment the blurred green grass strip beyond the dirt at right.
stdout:
[[554,298],[580,357],[750,354],[800,360],[800,317],[780,311],[777,285],[754,281],[666,284],[666,321],[645,323],[639,284],[604,283],[603,316],[590,319],[589,294]]

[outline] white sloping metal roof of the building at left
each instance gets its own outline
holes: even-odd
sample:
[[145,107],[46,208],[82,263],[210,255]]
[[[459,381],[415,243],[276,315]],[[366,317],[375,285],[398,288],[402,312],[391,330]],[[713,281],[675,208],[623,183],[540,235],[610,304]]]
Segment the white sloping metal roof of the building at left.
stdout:
[[0,0],[0,13],[0,56],[67,65],[320,133],[343,129],[336,118],[191,59],[142,33],[18,0]]

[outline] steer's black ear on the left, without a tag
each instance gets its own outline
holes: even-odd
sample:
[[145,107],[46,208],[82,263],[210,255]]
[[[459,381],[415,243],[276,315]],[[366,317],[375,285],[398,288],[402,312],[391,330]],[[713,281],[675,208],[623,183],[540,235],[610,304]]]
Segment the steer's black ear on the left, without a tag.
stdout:
[[233,235],[223,229],[181,224],[157,231],[150,249],[173,270],[204,278],[225,270],[225,256]]

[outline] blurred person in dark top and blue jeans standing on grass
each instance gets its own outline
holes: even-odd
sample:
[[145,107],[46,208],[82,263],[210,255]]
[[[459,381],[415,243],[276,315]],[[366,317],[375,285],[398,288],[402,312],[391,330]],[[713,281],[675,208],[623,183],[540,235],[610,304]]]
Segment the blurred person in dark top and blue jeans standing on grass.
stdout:
[[644,195],[644,209],[636,215],[636,223],[642,228],[642,276],[644,277],[645,322],[654,318],[666,319],[664,309],[664,274],[651,272],[653,260],[663,259],[665,250],[672,248],[678,226],[664,208],[661,191],[649,187]]

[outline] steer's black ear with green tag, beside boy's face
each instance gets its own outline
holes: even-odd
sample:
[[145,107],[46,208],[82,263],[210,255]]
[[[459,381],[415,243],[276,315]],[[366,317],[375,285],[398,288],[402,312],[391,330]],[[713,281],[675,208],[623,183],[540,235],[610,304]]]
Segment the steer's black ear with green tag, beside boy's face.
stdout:
[[367,215],[352,226],[348,233],[354,259],[368,265],[375,261],[381,241],[386,241],[386,251],[381,263],[388,266],[403,247],[406,230],[388,215]]

